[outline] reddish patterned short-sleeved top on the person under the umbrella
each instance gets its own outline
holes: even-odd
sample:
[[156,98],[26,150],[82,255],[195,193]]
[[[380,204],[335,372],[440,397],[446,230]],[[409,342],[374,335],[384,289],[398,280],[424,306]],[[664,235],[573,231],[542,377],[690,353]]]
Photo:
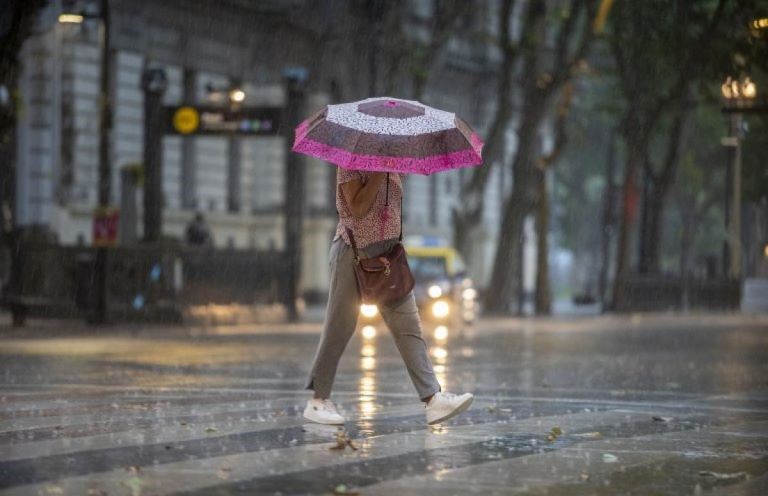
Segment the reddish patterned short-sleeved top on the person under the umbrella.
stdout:
[[370,172],[353,171],[336,168],[336,210],[339,212],[339,224],[336,227],[334,240],[341,237],[345,243],[351,244],[345,227],[352,230],[357,247],[365,249],[366,246],[400,236],[400,208],[403,198],[403,183],[400,174],[389,174],[389,206],[387,207],[387,183],[382,182],[379,193],[368,212],[362,217],[355,217],[347,205],[341,185],[360,179],[365,184],[370,177]]

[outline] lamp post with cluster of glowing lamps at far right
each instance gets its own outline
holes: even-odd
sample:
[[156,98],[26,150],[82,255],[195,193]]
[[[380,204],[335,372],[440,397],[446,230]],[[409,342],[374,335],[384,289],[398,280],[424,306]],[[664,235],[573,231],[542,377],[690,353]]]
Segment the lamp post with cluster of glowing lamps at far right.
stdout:
[[732,279],[741,278],[741,140],[744,137],[742,110],[748,109],[757,96],[750,78],[741,81],[728,77],[721,92],[730,113],[729,136],[722,143],[731,153],[726,172],[725,225],[728,239],[723,246],[723,271]]

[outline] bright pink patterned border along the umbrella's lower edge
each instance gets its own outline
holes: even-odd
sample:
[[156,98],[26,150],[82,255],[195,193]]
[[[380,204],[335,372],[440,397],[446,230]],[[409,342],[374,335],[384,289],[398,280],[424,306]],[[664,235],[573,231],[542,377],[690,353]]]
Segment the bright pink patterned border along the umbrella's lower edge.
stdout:
[[475,134],[473,134],[472,139],[472,150],[460,150],[423,158],[387,157],[381,155],[358,155],[315,140],[302,139],[306,135],[306,128],[308,126],[302,123],[299,127],[304,129],[297,129],[293,151],[326,160],[344,169],[427,175],[433,172],[483,163],[483,158],[480,154],[482,141],[476,138]]

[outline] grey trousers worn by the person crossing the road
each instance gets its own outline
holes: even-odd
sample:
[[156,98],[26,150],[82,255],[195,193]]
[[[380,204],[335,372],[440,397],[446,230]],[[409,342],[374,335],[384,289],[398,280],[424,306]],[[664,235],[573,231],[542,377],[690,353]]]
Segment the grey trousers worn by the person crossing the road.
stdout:
[[[358,250],[361,258],[386,253],[397,239],[386,240]],[[360,296],[354,272],[354,253],[344,240],[336,239],[330,252],[331,287],[320,344],[317,347],[306,389],[314,390],[320,398],[328,398],[336,376],[336,368],[347,343],[355,333]],[[440,391],[427,344],[421,336],[421,319],[413,292],[400,301],[379,305],[384,321],[395,338],[395,345],[403,357],[419,398],[424,399]]]

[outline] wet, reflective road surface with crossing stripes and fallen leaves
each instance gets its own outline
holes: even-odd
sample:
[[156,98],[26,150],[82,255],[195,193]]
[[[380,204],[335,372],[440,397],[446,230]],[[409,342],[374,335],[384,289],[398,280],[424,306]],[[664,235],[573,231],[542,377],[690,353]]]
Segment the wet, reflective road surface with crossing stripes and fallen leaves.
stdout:
[[301,418],[315,325],[0,327],[0,494],[768,494],[768,318],[427,325],[476,395],[434,428],[374,327],[344,449]]

